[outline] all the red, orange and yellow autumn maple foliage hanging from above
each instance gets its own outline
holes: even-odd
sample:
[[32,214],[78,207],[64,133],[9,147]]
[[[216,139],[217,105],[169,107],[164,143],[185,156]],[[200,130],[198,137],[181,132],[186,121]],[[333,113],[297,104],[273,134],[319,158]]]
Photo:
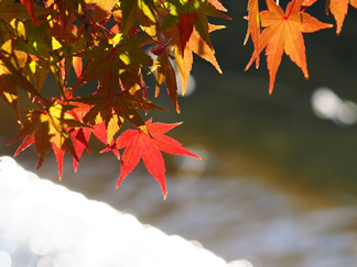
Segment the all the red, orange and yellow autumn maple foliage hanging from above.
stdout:
[[[279,1],[247,0],[245,43],[251,38],[253,45],[247,69],[259,67],[266,49],[269,93],[283,53],[309,78],[303,34],[333,26],[309,13],[316,1],[292,0],[282,8]],[[262,2],[267,10],[260,10]],[[357,8],[357,0],[326,1],[337,34],[349,7]],[[117,188],[142,159],[165,197],[161,152],[199,157],[165,135],[180,123],[145,119],[151,110],[166,111],[148,99],[148,77],[155,79],[154,94],[165,88],[180,112],[177,76],[184,94],[193,54],[221,73],[210,33],[225,26],[208,18],[230,20],[226,12],[219,0],[0,0],[0,94],[21,124],[9,143],[22,140],[15,155],[34,144],[40,168],[52,149],[61,179],[64,154],[77,170],[94,135],[102,152],[120,160]],[[57,90],[50,97],[47,77]],[[31,108],[20,107],[20,97]],[[122,131],[125,123],[133,130]]]

